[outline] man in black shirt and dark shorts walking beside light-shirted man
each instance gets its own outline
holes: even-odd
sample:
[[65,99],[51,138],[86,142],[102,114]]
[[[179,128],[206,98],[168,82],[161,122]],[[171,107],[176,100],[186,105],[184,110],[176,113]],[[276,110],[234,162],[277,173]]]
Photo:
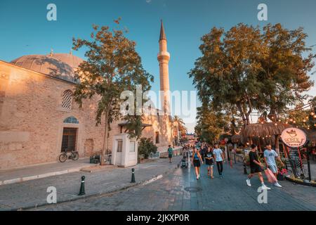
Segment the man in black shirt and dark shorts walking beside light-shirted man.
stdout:
[[256,153],[257,150],[257,146],[256,145],[251,145],[251,150],[249,152],[249,162],[250,162],[250,174],[248,176],[248,179],[246,179],[246,183],[249,187],[251,187],[251,183],[250,183],[250,179],[252,176],[254,176],[254,174],[258,174],[259,179],[261,181],[261,186],[263,189],[265,190],[270,190],[271,188],[268,188],[267,186],[265,186],[265,183],[263,182],[263,176],[261,174],[262,169],[264,167],[264,165],[261,164],[261,162],[259,162],[258,160],[258,155]]

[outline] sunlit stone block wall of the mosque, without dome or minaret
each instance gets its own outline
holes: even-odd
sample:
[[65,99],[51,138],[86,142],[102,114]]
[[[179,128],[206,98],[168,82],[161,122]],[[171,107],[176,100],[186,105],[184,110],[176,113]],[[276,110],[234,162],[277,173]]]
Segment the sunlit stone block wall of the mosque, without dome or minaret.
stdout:
[[[0,61],[0,170],[58,162],[64,127],[77,128],[76,149],[81,158],[100,153],[104,122],[96,127],[97,99],[84,101],[83,110],[73,100],[67,105],[62,99],[67,100],[67,90],[73,88],[72,82]],[[79,123],[64,123],[69,117]],[[171,143],[169,117],[150,116],[144,123],[152,127],[146,127],[143,136],[155,143],[158,131],[157,146],[166,151]],[[115,122],[110,131],[110,150],[112,137],[119,133]]]

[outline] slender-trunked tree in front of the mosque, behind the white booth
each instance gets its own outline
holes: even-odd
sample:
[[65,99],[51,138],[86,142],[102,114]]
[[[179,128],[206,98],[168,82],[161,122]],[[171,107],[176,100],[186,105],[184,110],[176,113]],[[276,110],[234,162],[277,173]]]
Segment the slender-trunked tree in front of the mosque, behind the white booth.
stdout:
[[[135,41],[126,38],[122,30],[111,31],[107,26],[99,29],[97,25],[93,25],[91,41],[73,39],[74,50],[82,47],[87,49],[87,60],[79,65],[76,72],[80,82],[75,87],[74,99],[82,108],[84,99],[98,96],[96,125],[103,120],[105,122],[101,165],[104,164],[107,153],[110,124],[123,117],[120,112],[120,105],[124,101],[120,99],[121,92],[133,91],[137,84],[141,84],[143,91],[147,91],[150,89],[150,80],[153,80],[152,75],[143,69],[135,46]],[[141,116],[125,115],[123,118],[140,130]],[[136,135],[139,136],[139,132]]]

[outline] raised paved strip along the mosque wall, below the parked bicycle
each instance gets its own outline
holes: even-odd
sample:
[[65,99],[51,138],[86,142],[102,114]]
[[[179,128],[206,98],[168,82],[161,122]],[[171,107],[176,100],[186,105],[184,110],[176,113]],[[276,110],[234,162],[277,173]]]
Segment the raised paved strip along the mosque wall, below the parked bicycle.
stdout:
[[84,167],[91,167],[89,158],[83,158],[77,161],[67,160],[66,162],[54,162],[32,167],[23,167],[20,169],[0,171],[0,185],[13,184],[21,181],[29,181],[48,176],[67,174],[70,172],[79,172]]

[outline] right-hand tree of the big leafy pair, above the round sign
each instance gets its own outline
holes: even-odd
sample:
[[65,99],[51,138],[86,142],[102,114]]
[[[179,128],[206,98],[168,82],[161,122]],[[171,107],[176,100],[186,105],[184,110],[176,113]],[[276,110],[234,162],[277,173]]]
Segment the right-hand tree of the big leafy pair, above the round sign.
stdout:
[[296,30],[284,29],[280,24],[263,27],[264,49],[258,79],[264,87],[262,96],[270,110],[269,118],[274,122],[287,106],[303,103],[306,98],[303,91],[313,85],[308,72],[314,66],[315,56],[302,56],[311,50],[305,46],[306,37],[301,27]]

